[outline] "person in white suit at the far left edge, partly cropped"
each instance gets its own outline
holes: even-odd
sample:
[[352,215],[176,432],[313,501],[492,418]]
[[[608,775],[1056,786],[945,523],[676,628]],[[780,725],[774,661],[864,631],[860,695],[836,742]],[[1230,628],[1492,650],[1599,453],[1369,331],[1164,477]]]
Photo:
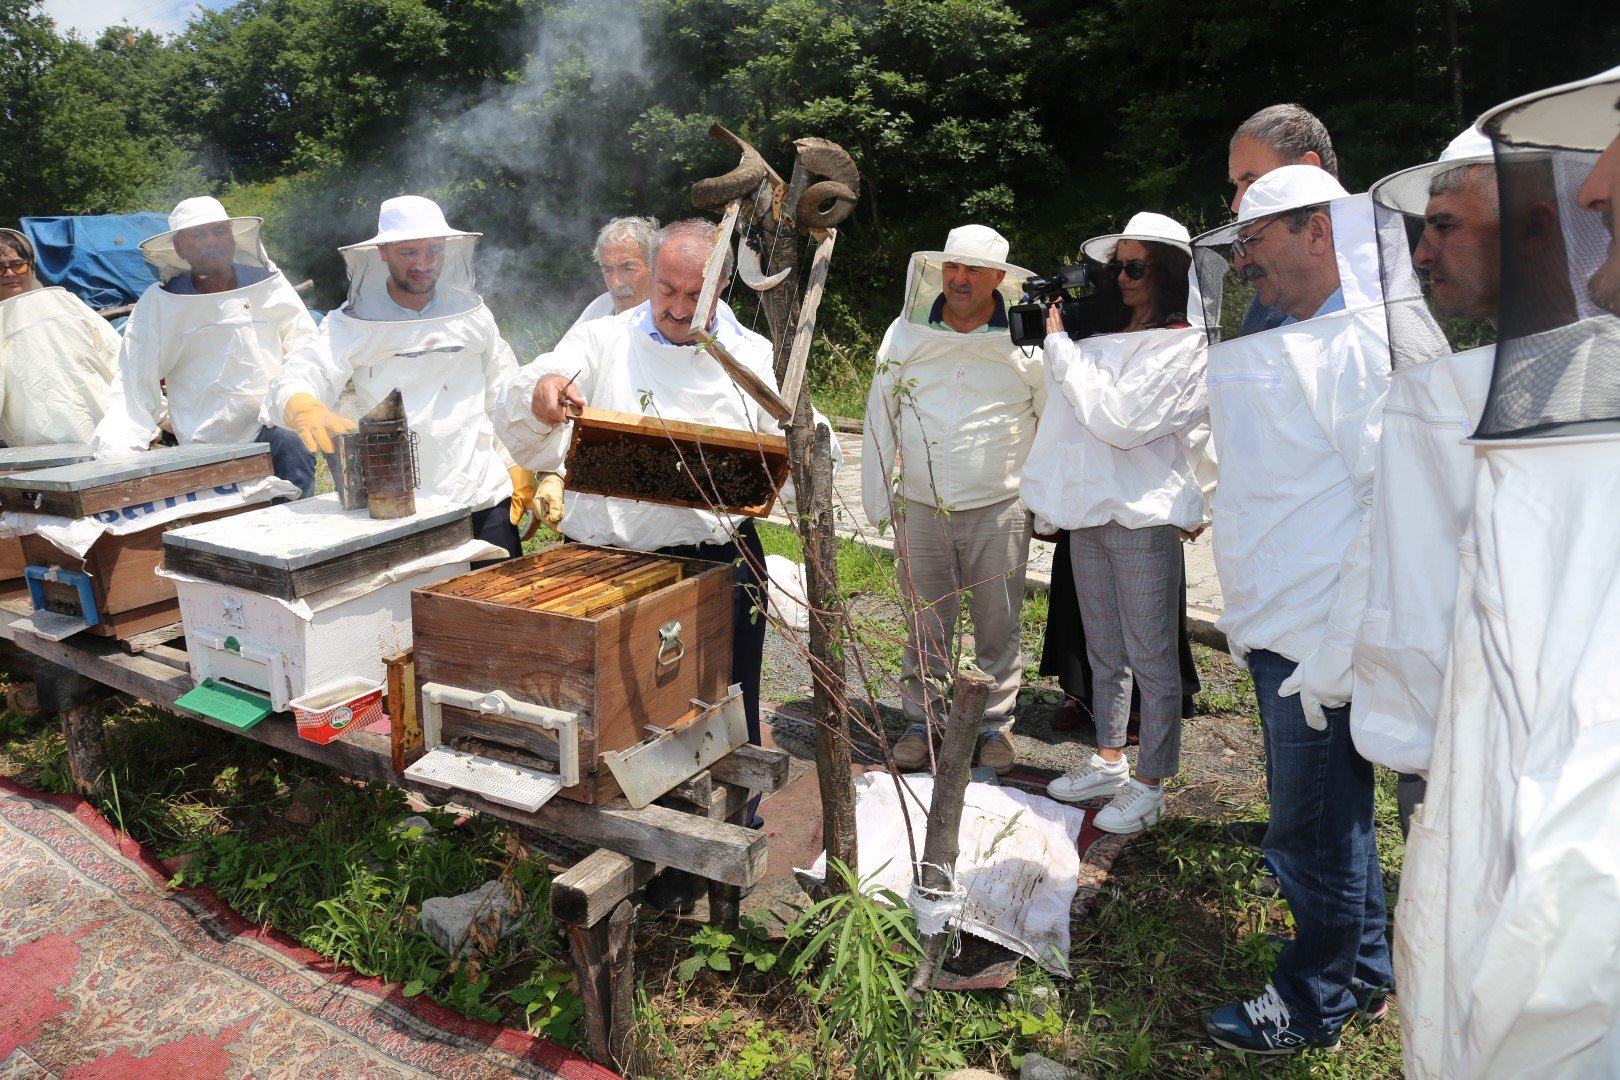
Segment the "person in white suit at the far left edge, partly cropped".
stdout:
[[118,332],[65,288],[45,288],[34,244],[0,228],[0,440],[89,442],[118,371]]

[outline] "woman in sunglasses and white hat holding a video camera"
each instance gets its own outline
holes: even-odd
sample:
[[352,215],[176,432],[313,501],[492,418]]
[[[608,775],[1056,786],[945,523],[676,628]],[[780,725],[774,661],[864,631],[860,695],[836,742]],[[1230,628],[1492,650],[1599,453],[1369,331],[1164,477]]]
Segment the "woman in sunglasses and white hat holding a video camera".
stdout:
[[[1194,470],[1207,440],[1207,343],[1187,317],[1192,248],[1178,222],[1137,214],[1123,233],[1081,251],[1116,277],[1121,325],[1074,342],[1050,313],[1051,405],[1019,494],[1037,521],[1068,531],[1097,753],[1047,790],[1071,803],[1106,797],[1097,827],[1137,832],[1163,816],[1163,780],[1179,769],[1181,539],[1207,520]],[[1134,772],[1124,756],[1132,685],[1140,698]]]

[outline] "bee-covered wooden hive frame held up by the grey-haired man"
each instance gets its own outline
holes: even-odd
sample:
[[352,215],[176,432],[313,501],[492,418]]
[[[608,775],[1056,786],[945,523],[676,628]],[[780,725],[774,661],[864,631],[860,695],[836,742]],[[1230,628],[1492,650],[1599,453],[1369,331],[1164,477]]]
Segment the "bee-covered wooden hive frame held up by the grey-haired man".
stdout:
[[763,518],[791,468],[781,436],[586,408],[573,418],[567,483],[593,495]]

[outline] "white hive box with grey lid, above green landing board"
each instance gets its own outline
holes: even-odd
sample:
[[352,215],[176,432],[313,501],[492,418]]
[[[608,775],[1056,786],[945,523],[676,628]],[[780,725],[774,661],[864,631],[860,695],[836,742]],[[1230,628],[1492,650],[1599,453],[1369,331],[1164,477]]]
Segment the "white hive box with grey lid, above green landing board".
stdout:
[[[467,573],[465,554],[450,555],[471,539],[467,507],[436,495],[418,495],[403,518],[343,510],[327,494],[170,529],[164,568],[185,575],[191,677],[266,693],[277,709],[353,678],[381,682],[382,657],[410,648],[411,589]],[[376,583],[387,570],[394,580]]]

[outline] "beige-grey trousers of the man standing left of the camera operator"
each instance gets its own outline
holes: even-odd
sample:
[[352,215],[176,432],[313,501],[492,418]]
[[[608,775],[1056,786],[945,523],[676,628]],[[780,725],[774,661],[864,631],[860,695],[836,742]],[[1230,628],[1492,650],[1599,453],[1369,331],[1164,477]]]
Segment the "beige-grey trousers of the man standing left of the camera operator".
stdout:
[[1019,614],[1029,538],[1029,510],[1016,497],[951,512],[906,500],[894,521],[894,551],[901,589],[914,612],[901,664],[901,704],[912,724],[944,721],[943,691],[951,685],[956,622],[966,591],[974,659],[995,680],[982,730],[1013,727],[1024,680]]

